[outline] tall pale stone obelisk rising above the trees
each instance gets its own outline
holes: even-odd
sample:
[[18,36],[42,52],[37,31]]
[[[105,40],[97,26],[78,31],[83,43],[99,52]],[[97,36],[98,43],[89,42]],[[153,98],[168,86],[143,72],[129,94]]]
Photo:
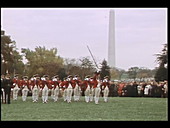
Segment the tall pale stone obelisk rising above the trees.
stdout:
[[108,64],[110,67],[115,67],[115,12],[114,10],[110,10],[110,14],[109,14]]

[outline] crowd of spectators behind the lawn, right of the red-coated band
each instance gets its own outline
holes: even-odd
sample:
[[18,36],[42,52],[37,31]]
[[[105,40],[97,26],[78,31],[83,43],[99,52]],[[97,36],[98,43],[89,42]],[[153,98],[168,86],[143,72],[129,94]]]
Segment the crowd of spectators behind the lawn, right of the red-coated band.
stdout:
[[114,96],[168,97],[168,81],[119,82],[114,85]]

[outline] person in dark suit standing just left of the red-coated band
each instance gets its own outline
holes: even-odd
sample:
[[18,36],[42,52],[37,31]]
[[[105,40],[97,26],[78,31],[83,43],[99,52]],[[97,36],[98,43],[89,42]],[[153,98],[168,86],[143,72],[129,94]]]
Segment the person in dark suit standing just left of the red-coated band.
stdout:
[[11,86],[12,79],[10,77],[10,74],[7,74],[4,81],[5,104],[10,104]]

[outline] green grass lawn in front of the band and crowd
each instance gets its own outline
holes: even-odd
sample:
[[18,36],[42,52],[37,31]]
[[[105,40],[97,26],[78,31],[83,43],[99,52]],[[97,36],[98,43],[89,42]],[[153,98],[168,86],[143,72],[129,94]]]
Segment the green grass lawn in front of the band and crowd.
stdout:
[[99,104],[81,101],[68,104],[60,98],[51,99],[47,104],[11,101],[1,104],[1,121],[167,121],[167,98],[109,97],[105,103],[100,97]]

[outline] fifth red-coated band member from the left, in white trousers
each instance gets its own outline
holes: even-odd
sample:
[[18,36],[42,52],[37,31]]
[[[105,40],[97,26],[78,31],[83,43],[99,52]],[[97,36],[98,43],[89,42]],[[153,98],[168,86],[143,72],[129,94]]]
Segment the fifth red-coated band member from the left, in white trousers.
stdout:
[[60,83],[61,81],[59,80],[59,76],[56,75],[53,77],[52,79],[52,95],[53,95],[53,99],[54,99],[54,102],[56,102],[58,100],[58,97],[59,97],[59,93],[60,93]]

